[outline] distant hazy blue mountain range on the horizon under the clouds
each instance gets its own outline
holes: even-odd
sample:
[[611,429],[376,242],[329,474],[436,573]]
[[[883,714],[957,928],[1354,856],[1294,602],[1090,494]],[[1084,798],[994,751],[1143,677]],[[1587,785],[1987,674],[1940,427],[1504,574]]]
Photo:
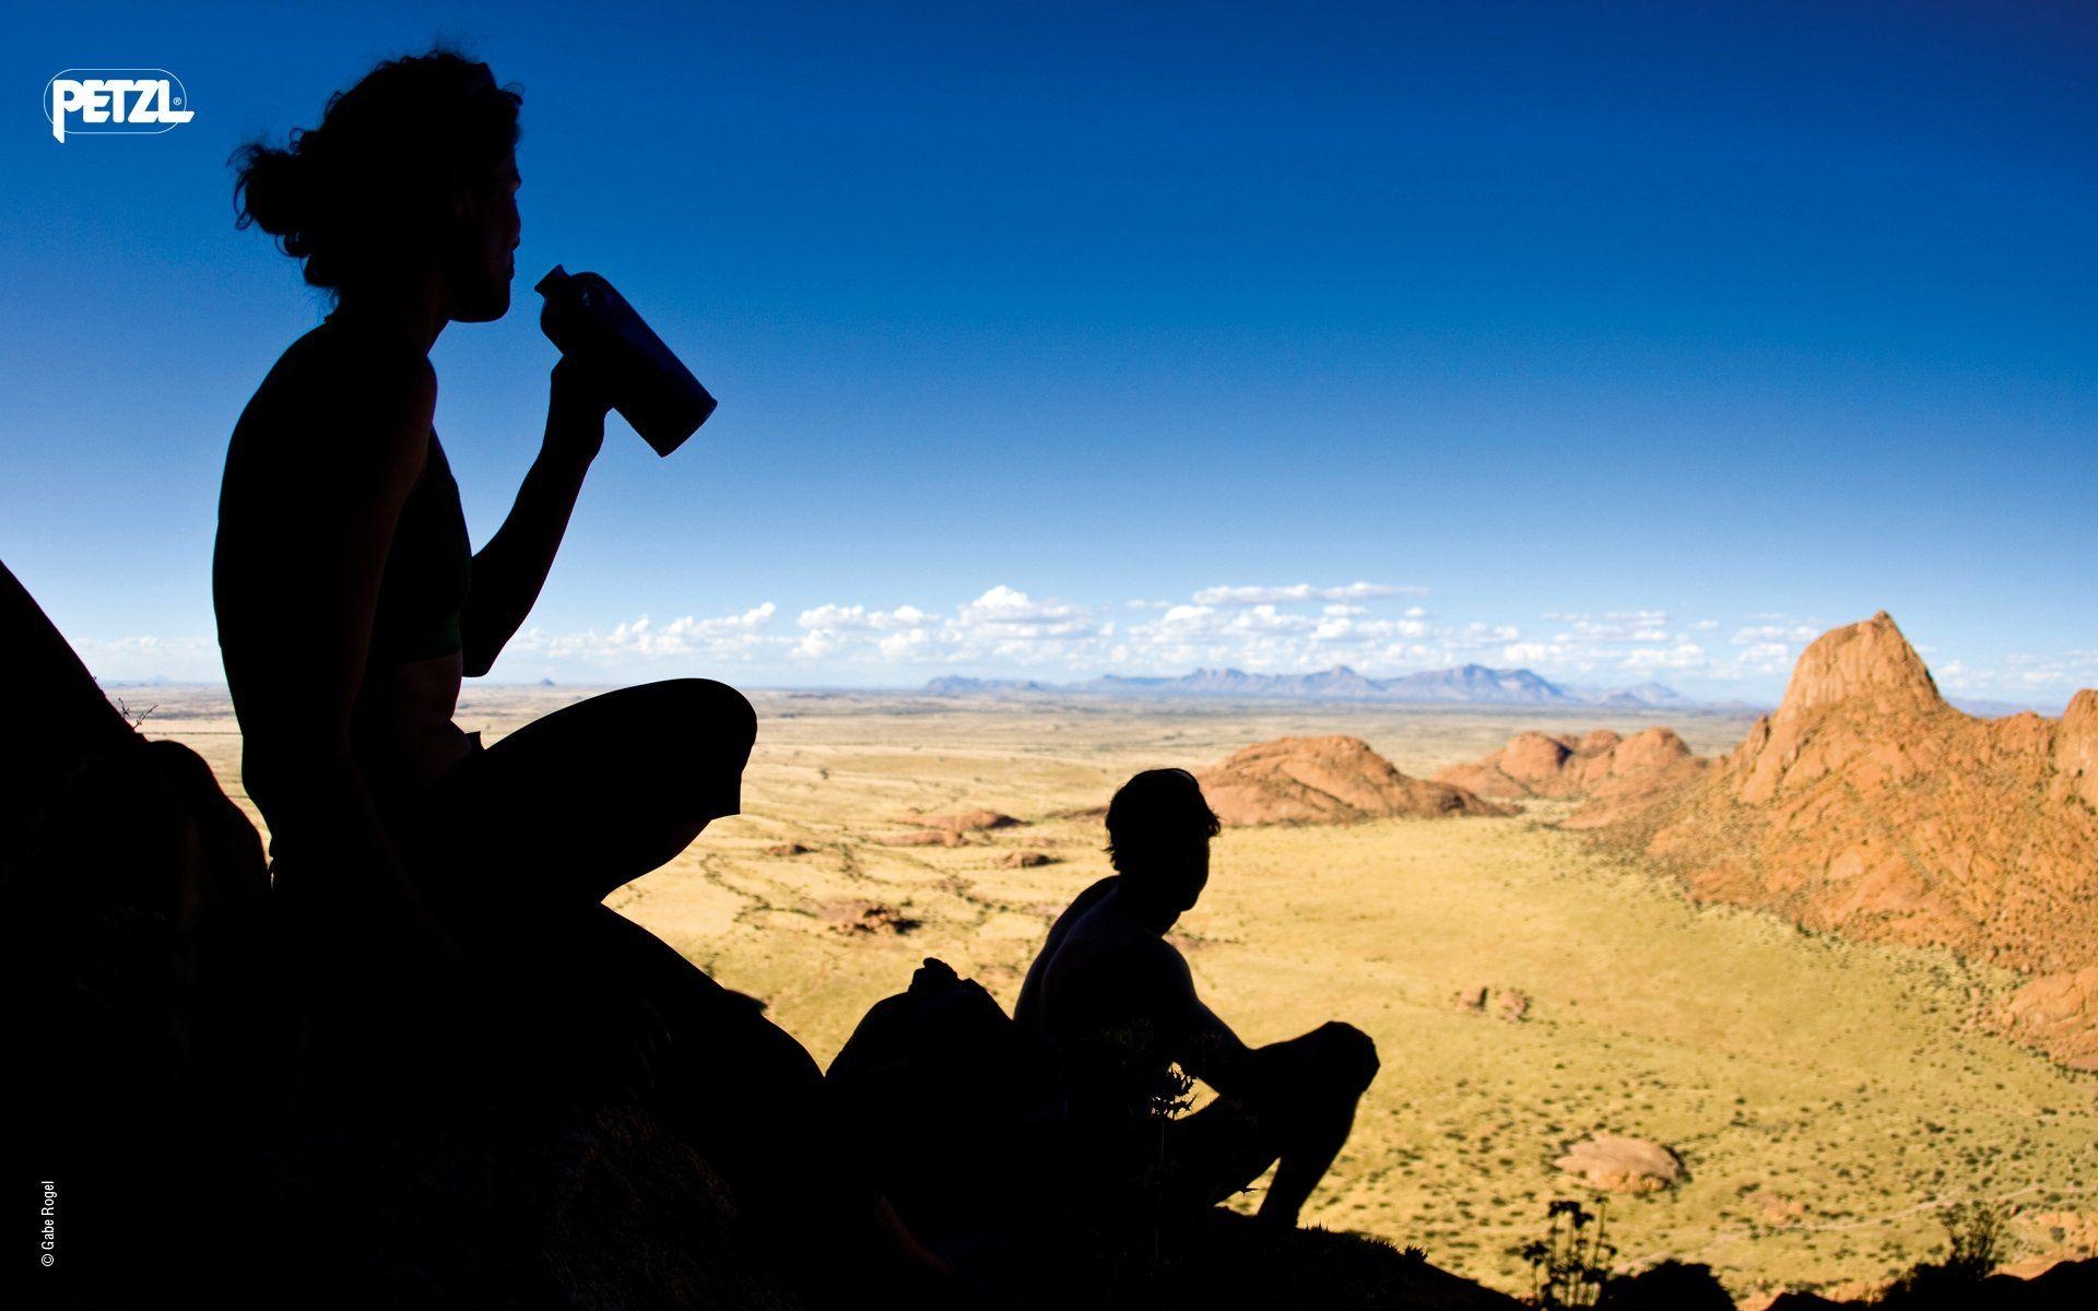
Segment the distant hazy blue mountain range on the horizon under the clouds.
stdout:
[[1555,684],[1529,669],[1458,665],[1399,678],[1366,678],[1347,665],[1318,673],[1246,673],[1244,669],[1196,669],[1179,678],[1122,678],[1108,673],[1076,684],[1043,684],[1011,678],[936,678],[932,696],[978,696],[1011,692],[1106,692],[1112,696],[1242,696],[1278,701],[1389,701],[1404,705],[1603,705],[1613,709],[1674,709],[1697,705],[1655,682],[1634,688],[1576,688]]

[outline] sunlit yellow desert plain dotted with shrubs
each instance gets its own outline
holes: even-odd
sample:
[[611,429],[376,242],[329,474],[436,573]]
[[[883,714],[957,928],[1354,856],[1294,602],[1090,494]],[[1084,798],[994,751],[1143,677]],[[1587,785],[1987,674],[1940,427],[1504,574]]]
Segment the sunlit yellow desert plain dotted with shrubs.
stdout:
[[[111,692],[143,732],[199,751],[262,824],[222,688]],[[587,694],[478,686],[457,717],[493,743]],[[1097,808],[1135,770],[1353,734],[1425,778],[1519,730],[1668,724],[1712,755],[1752,722],[1108,696],[751,701],[745,812],[608,904],[762,998],[822,1063],[923,957],[1011,1009],[1051,919],[1108,873]],[[892,845],[925,829],[919,816],[973,810],[1020,822],[961,845]],[[1519,1252],[1542,1235],[1546,1202],[1607,1200],[1618,1269],[1708,1263],[1743,1301],[1878,1284],[1941,1254],[1941,1210],[1970,1200],[2016,1208],[2014,1269],[2098,1250],[2098,1076],[1983,1022],[2016,975],[1693,902],[1636,854],[1557,829],[1563,814],[1525,801],[1498,818],[1227,829],[1215,843],[1208,891],[1173,931],[1211,1007],[1250,1043],[1349,1019],[1383,1057],[1307,1223],[1418,1244],[1446,1269],[1523,1292]],[[1666,1145],[1685,1173],[1655,1191],[1607,1191],[1555,1164],[1590,1135]]]

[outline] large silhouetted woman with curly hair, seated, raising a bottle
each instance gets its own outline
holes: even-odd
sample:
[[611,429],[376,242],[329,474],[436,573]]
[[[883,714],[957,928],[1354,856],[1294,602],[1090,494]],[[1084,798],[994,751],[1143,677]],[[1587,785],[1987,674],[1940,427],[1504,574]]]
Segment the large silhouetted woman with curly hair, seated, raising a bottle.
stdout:
[[483,749],[453,722],[545,583],[608,403],[566,361],[510,518],[472,552],[430,415],[447,323],[510,308],[518,103],[487,65],[388,61],[290,149],[235,155],[239,224],[334,294],[233,430],[218,642],[287,891],[443,957],[438,883],[598,902],[738,810],[755,717],[715,682],[594,696]]

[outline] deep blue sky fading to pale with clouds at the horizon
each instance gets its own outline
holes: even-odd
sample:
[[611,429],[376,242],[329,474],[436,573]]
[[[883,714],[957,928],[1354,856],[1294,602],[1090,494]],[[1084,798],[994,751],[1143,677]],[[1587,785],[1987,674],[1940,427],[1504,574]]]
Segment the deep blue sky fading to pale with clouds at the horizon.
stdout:
[[[1458,661],[1773,696],[1890,610],[2098,684],[2098,19],[2018,4],[17,6],[0,560],[97,673],[216,678],[218,472],[321,315],[235,145],[382,57],[524,90],[512,315],[436,426],[485,541],[531,281],[720,413],[615,420],[497,680],[908,686]],[[195,122],[59,145],[63,67]]]

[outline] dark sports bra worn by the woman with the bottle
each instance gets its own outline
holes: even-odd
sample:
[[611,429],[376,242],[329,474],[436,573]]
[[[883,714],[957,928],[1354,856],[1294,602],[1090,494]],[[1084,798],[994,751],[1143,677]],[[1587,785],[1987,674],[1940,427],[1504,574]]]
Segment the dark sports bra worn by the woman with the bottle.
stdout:
[[459,650],[459,612],[472,583],[474,550],[466,537],[459,485],[430,428],[422,476],[401,503],[380,598],[371,615],[369,659],[401,665]]

